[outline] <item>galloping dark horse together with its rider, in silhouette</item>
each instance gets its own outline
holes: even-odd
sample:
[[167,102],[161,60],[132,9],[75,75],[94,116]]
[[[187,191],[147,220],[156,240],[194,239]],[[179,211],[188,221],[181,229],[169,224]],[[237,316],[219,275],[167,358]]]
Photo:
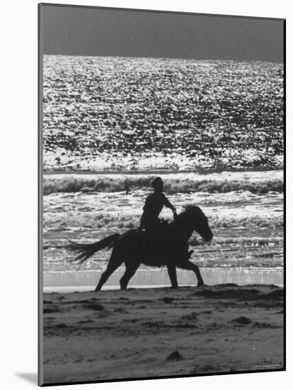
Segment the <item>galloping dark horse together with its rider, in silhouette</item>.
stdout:
[[[177,214],[176,208],[163,194],[161,177],[156,177],[151,186],[154,192],[146,197],[138,229],[127,230],[122,234],[115,233],[93,244],[69,245],[69,249],[78,254],[73,261],[79,260],[79,264],[99,250],[112,248],[108,266],[100,277],[96,291],[100,291],[110,275],[123,263],[125,273],[120,279],[121,289],[127,289],[128,282],[140,264],[152,267],[166,266],[173,289],[178,287],[176,267],[195,272],[197,286],[204,284],[200,269],[190,262],[193,250],[188,252],[188,240],[194,231],[204,240],[212,240],[207,216],[200,207],[193,205],[185,206],[183,212]],[[174,219],[171,223],[159,218],[163,206],[173,211]]]

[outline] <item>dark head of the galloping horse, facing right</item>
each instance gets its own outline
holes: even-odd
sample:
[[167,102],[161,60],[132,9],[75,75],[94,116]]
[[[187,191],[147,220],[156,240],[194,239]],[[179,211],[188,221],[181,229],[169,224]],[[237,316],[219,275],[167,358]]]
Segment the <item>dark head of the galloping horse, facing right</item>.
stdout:
[[193,228],[202,238],[206,241],[212,240],[212,230],[209,228],[209,222],[207,216],[202,212],[202,209],[198,206],[185,206],[183,214],[190,223],[190,227]]

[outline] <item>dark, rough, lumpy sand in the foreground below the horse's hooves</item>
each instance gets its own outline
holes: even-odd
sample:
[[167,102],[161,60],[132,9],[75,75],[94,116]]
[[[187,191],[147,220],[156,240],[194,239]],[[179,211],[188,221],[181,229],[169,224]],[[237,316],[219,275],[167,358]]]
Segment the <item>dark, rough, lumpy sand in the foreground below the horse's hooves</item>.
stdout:
[[283,289],[44,294],[44,383],[282,369]]

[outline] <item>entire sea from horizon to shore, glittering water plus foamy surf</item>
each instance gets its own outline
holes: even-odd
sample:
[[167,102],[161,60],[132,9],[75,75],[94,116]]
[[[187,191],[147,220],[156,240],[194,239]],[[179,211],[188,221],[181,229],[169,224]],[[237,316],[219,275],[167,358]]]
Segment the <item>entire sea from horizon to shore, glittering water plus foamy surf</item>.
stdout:
[[[158,175],[178,212],[196,204],[209,218],[212,242],[190,240],[207,274],[280,276],[282,77],[270,62],[45,55],[45,279],[78,272],[67,240],[137,228]],[[79,272],[100,272],[109,257],[99,252]]]

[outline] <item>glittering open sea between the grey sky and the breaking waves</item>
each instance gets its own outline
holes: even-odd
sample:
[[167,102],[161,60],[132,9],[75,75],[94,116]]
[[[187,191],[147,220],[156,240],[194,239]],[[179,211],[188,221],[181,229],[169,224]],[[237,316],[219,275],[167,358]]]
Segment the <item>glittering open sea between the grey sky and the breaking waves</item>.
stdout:
[[45,55],[46,171],[275,169],[283,65]]

